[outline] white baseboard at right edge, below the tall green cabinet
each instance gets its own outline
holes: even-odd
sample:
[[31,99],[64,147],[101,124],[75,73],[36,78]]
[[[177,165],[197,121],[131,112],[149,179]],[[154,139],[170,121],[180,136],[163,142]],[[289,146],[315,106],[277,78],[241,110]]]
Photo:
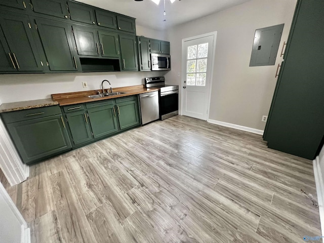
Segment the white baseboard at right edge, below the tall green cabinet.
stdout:
[[319,166],[318,156],[313,160],[313,169],[314,169],[314,177],[315,177],[315,184],[316,184],[320,226],[322,230],[322,235],[324,235],[324,182],[323,182],[323,176]]

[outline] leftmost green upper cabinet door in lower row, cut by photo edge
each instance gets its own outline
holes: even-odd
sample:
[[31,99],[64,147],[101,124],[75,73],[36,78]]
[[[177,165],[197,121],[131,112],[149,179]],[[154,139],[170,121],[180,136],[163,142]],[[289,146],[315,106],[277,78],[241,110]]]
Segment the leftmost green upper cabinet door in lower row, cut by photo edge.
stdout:
[[4,33],[0,28],[0,72],[3,71],[16,72],[17,67],[12,59],[12,54],[10,53]]

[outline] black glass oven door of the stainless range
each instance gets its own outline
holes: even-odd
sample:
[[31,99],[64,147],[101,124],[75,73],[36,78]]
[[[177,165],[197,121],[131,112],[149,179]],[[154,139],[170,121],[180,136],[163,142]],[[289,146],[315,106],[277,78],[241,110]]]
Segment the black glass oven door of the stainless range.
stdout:
[[161,93],[159,104],[161,120],[177,115],[179,109],[179,91]]

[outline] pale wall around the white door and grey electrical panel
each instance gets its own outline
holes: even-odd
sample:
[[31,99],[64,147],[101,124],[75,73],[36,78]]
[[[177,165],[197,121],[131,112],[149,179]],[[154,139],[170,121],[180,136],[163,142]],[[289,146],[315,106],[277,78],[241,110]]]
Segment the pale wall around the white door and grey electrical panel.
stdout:
[[[274,66],[249,67],[256,29],[285,23],[278,52],[287,42],[297,0],[252,0],[168,30],[172,70],[168,83],[183,86],[181,41],[217,31],[214,77],[209,119],[264,130],[276,84]],[[181,92],[181,90],[180,90]]]

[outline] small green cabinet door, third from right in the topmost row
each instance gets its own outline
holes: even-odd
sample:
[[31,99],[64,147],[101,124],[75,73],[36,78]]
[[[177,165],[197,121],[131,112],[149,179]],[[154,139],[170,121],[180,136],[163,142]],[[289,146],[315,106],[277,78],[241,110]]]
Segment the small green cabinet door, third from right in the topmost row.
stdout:
[[68,2],[71,20],[87,24],[96,24],[95,12],[92,6]]

